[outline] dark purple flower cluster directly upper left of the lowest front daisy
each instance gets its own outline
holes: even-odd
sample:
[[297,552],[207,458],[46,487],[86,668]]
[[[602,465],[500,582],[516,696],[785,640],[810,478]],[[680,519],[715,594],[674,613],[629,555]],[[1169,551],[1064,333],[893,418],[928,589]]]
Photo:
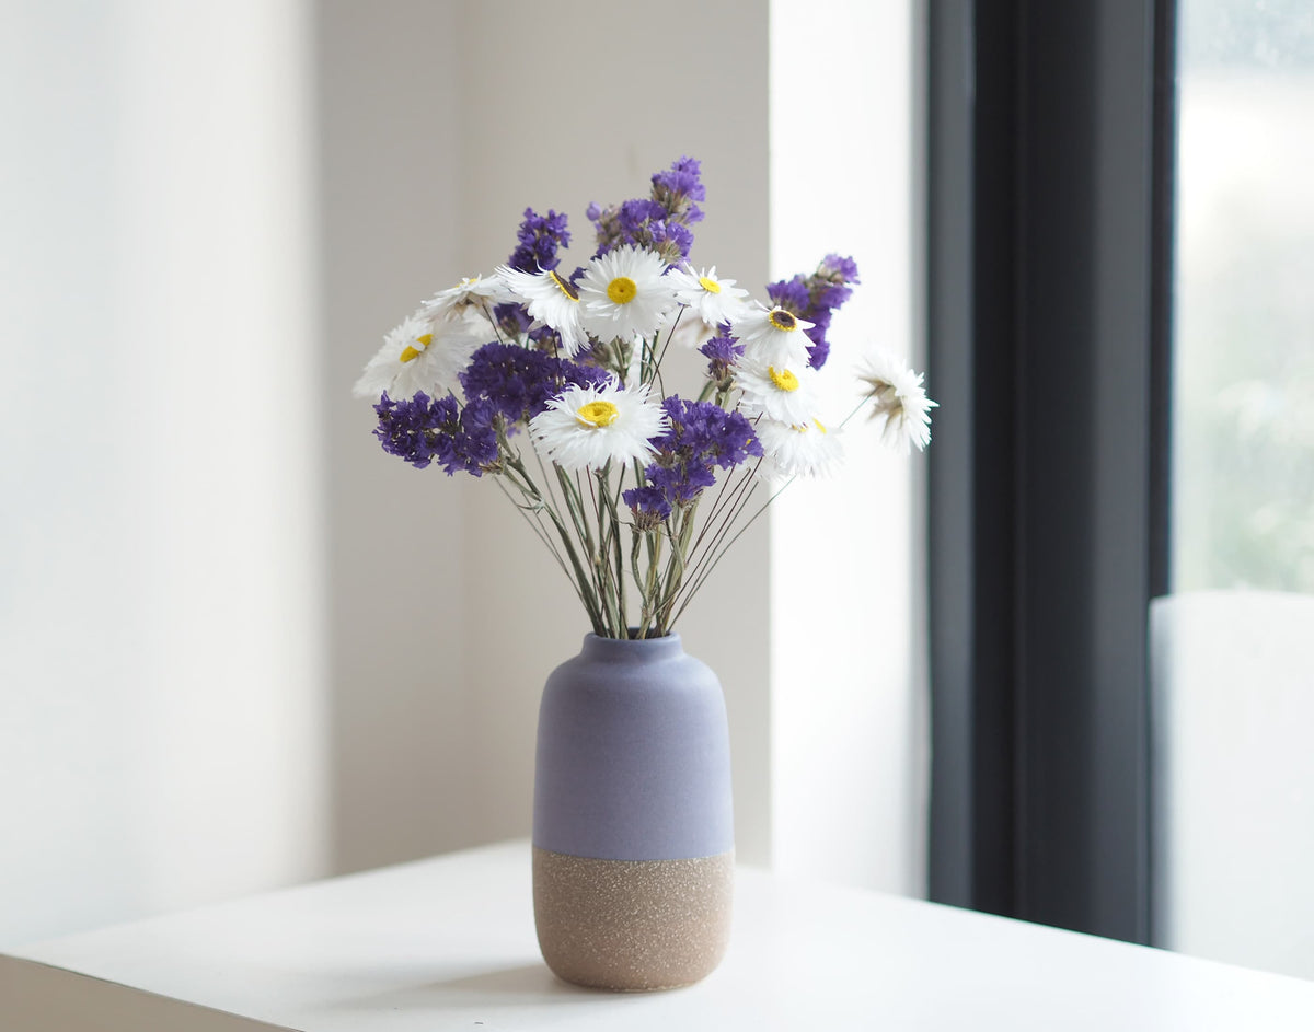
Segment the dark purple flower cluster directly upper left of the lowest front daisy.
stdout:
[[461,386],[470,399],[466,408],[480,400],[507,423],[533,419],[566,385],[600,386],[607,379],[603,369],[495,341],[474,352],[461,373]]

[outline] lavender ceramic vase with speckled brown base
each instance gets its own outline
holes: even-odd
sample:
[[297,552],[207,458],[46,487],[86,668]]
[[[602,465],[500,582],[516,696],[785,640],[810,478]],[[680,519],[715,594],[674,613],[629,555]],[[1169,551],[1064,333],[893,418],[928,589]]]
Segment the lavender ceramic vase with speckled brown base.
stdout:
[[716,675],[677,634],[589,634],[539,710],[533,918],[548,966],[610,990],[699,981],[729,940],[733,873]]

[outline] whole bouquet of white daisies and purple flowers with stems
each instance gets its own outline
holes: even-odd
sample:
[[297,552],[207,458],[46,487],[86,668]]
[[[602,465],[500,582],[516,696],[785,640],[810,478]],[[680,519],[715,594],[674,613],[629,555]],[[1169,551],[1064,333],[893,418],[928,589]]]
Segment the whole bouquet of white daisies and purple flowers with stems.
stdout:
[[[816,378],[857,265],[828,255],[752,302],[689,260],[704,198],[681,158],[648,197],[590,205],[597,249],[569,276],[566,217],[526,210],[507,264],[426,301],[355,387],[376,399],[384,450],[502,488],[602,637],[668,634],[777,486],[840,457],[848,419],[823,421]],[[691,399],[668,393],[673,343],[707,358]],[[921,381],[874,355],[854,412],[921,449],[936,404]]]

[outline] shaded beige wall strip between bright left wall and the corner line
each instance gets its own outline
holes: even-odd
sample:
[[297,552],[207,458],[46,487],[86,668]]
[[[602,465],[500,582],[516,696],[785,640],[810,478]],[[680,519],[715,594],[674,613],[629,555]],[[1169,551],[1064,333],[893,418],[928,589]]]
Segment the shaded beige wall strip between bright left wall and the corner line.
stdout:
[[[384,454],[351,386],[460,267],[457,4],[315,5],[332,865],[478,840],[468,484]],[[478,487],[478,484],[474,484]]]

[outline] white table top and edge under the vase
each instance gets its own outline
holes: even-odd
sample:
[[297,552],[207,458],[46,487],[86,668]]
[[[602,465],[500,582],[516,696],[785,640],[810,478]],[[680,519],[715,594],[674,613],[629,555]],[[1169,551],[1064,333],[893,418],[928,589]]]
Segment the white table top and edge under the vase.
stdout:
[[509,843],[0,956],[4,1032],[1314,1029],[1314,982],[742,871],[710,978],[614,995],[539,958]]

